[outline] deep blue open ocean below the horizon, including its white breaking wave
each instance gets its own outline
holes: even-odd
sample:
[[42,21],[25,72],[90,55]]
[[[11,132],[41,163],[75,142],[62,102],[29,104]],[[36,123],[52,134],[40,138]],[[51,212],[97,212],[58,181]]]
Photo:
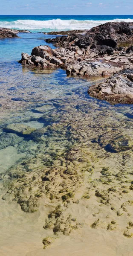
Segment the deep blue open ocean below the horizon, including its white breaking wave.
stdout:
[[106,22],[133,21],[133,15],[0,15],[0,27],[50,32],[91,29]]

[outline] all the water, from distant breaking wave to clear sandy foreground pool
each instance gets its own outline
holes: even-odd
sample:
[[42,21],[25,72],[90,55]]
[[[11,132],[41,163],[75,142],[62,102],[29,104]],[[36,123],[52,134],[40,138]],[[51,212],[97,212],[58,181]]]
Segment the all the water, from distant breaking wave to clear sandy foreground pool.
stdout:
[[55,37],[38,32],[107,21],[133,15],[0,15],[0,27],[32,32],[0,38],[0,256],[133,255],[133,148],[106,149],[123,134],[133,141],[133,105],[89,96],[98,78],[18,63]]

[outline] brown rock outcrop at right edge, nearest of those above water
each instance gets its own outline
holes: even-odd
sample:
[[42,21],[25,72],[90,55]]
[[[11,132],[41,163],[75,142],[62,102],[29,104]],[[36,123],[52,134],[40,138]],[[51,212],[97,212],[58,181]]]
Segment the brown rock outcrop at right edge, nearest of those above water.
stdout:
[[106,81],[91,86],[88,93],[109,102],[133,104],[133,69],[123,70]]

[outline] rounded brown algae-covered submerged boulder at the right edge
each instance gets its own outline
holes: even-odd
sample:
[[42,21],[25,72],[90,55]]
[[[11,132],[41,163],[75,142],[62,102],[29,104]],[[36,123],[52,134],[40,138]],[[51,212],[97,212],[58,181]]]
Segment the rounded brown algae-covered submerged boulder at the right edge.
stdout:
[[133,140],[127,135],[121,135],[108,144],[107,147],[114,152],[126,151],[133,147]]

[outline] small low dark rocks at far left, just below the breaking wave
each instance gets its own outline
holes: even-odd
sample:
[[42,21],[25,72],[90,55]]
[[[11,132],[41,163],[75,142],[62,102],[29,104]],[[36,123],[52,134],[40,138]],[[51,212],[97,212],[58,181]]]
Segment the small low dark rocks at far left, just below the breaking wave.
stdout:
[[16,38],[16,34],[21,33],[30,33],[29,30],[17,30],[17,29],[6,29],[0,28],[0,38]]

